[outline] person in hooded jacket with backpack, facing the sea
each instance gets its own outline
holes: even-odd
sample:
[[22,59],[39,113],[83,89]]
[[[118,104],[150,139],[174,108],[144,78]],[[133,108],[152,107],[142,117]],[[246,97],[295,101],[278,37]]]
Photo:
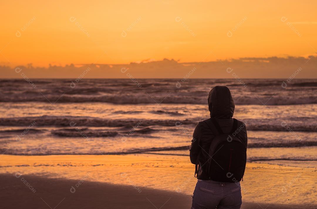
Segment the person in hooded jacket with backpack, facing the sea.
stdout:
[[210,118],[197,124],[191,141],[190,158],[197,175],[192,209],[239,209],[247,130],[232,118],[235,105],[228,87],[211,89],[208,106]]

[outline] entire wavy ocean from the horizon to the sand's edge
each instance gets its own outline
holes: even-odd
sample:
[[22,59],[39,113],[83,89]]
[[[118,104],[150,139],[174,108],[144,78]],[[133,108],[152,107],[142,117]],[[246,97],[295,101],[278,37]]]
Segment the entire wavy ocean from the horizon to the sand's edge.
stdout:
[[247,126],[249,162],[316,166],[316,79],[0,80],[0,151],[189,155],[217,85]]

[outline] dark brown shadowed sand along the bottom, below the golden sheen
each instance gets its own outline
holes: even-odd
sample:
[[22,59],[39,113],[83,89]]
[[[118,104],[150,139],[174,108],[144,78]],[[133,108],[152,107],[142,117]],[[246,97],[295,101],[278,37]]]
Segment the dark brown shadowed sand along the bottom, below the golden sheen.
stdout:
[[[23,178],[23,179],[22,179]],[[139,188],[100,182],[52,179],[40,176],[1,174],[2,208],[190,208],[191,196],[164,190]],[[23,182],[27,181],[27,183]],[[73,189],[75,188],[75,189]],[[316,208],[300,205],[278,205],[244,202],[251,208]]]

